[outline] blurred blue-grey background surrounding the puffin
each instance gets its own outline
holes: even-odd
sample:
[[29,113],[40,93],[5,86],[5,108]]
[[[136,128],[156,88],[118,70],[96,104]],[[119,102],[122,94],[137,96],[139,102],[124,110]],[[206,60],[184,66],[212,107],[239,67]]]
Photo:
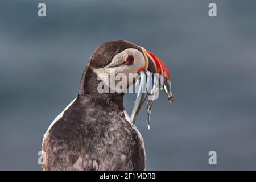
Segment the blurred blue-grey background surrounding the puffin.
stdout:
[[256,169],[256,1],[45,0],[46,18],[39,2],[0,1],[0,169],[42,169],[44,132],[76,97],[94,49],[114,39],[171,72],[175,104],[162,92],[151,129],[145,108],[136,123],[147,169]]

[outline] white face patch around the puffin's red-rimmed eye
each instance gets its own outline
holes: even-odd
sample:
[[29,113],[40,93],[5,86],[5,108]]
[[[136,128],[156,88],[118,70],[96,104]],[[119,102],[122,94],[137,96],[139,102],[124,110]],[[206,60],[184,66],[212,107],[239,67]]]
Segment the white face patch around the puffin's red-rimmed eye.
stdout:
[[[133,64],[125,63],[127,57],[133,57]],[[123,78],[126,77],[127,86],[133,84],[133,78],[131,74],[134,74],[135,80],[139,77],[137,72],[140,68],[144,68],[146,61],[141,51],[137,49],[129,48],[115,55],[110,62],[104,68],[93,69],[93,72],[100,77],[106,85],[109,85],[112,90],[115,90],[117,93],[124,92],[126,86],[118,86],[118,82],[123,82]],[[136,75],[135,75],[136,74]],[[119,81],[120,80],[120,81]],[[114,82],[114,85],[110,83]],[[115,86],[115,88],[113,88]]]

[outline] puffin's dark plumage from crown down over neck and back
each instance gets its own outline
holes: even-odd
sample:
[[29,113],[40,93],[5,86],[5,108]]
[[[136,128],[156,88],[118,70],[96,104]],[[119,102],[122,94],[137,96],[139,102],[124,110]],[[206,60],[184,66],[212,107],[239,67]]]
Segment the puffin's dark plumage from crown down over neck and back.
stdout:
[[146,156],[139,131],[127,121],[123,94],[97,92],[94,68],[102,68],[127,48],[125,40],[102,44],[82,75],[75,101],[43,139],[44,170],[144,170]]

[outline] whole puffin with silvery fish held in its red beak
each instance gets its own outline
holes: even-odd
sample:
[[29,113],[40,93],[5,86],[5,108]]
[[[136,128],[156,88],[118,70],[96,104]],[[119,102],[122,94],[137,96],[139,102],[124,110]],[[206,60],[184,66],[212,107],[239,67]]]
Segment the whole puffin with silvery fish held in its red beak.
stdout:
[[[112,75],[118,74],[134,77],[119,90],[106,86]],[[159,88],[174,102],[170,80],[163,61],[141,46],[127,40],[112,40],[98,46],[84,69],[77,97],[44,134],[43,170],[145,170],[144,142],[135,119],[148,98],[149,129],[151,108]],[[99,92],[102,82],[107,89]],[[129,117],[123,97],[132,85],[138,89]]]

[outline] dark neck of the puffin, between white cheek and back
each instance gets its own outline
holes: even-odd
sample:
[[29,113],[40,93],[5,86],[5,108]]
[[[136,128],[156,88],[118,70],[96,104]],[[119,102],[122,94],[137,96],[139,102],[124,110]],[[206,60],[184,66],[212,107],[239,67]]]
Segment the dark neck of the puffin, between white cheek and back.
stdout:
[[86,68],[80,82],[78,98],[89,99],[96,103],[115,105],[123,110],[123,93],[98,93],[97,87],[101,80],[90,68]]

